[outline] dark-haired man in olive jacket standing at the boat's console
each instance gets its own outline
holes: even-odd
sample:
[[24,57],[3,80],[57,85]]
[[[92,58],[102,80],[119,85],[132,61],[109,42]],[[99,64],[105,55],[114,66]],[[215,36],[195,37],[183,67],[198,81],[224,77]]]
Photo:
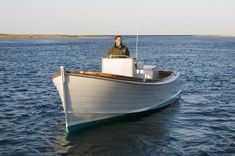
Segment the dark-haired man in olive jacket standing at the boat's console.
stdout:
[[115,36],[114,45],[109,48],[108,57],[130,57],[129,50],[122,44],[122,36]]

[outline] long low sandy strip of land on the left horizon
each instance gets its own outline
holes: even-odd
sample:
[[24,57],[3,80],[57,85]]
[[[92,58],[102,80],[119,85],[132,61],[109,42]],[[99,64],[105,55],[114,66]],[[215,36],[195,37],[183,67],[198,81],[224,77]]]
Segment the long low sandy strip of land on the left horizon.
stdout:
[[104,35],[0,34],[0,38],[106,38]]

